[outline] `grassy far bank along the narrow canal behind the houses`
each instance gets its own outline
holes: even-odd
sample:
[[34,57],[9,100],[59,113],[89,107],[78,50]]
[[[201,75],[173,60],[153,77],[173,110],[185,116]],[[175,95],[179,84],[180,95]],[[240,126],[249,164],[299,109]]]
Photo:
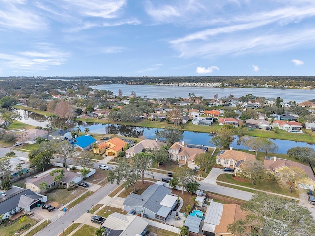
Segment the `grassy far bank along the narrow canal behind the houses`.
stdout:
[[[24,109],[23,106],[17,105],[14,106],[17,109]],[[47,111],[40,111],[38,109],[32,109],[32,108],[26,108],[27,111],[35,112],[41,115],[45,116],[51,116],[50,112]],[[97,118],[77,118],[77,121],[84,121],[88,123],[100,123],[100,124],[118,124],[118,125],[130,125],[130,126],[137,126],[137,127],[144,127],[144,128],[157,128],[157,129],[163,129],[167,126],[172,126],[172,124],[167,124],[164,122],[154,122],[149,120],[142,120],[140,122],[136,123],[126,123],[126,122],[111,122],[110,120],[104,120],[104,119],[97,119]],[[23,123],[22,123],[23,124]],[[14,124],[13,124],[14,125]],[[13,125],[10,126],[14,127]],[[210,127],[205,126],[199,126],[199,125],[193,125],[191,122],[188,122],[184,125],[184,128],[182,130],[184,131],[192,131],[192,132],[200,132],[200,133],[209,133],[211,130],[218,130],[222,128],[222,126],[219,126],[218,124],[214,124]],[[235,129],[235,135],[240,135],[238,133],[238,130]],[[307,143],[315,143],[315,133],[312,133],[311,130],[305,130],[303,129],[303,134],[296,134],[296,133],[289,133],[284,130],[277,130],[277,133],[273,131],[265,131],[265,130],[257,130],[254,129],[252,131],[247,130],[245,131],[245,135],[253,136],[253,137],[263,137],[263,138],[269,138],[269,139],[280,139],[280,140],[291,140],[291,141],[299,141],[299,142],[307,142]]]

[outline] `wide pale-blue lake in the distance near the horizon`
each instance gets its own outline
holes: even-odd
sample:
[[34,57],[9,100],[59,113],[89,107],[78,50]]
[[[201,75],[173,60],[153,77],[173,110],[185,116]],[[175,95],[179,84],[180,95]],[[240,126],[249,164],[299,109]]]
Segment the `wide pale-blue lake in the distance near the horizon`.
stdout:
[[111,84],[91,86],[92,89],[109,90],[118,95],[121,89],[123,96],[131,95],[134,91],[137,96],[147,96],[148,98],[188,98],[189,93],[194,93],[197,97],[213,98],[218,94],[219,98],[229,96],[241,97],[252,94],[257,97],[277,98],[280,97],[284,102],[296,101],[297,103],[305,100],[315,99],[314,89],[273,89],[273,88],[218,88],[218,87],[179,87],[179,86],[155,86],[155,85],[126,85]]

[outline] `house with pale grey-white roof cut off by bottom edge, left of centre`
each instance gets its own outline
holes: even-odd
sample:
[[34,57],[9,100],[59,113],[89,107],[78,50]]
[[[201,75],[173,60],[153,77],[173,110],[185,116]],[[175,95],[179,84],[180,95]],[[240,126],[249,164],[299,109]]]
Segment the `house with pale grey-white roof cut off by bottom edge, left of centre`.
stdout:
[[148,222],[136,215],[110,214],[103,223],[106,236],[145,235]]

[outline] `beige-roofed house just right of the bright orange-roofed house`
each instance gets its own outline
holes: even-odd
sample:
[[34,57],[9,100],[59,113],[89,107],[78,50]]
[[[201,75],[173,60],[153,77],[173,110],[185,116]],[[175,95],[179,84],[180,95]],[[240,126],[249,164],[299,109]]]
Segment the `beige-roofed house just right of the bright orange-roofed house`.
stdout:
[[134,145],[133,147],[126,150],[126,152],[125,152],[126,157],[131,158],[135,154],[140,153],[143,150],[145,150],[146,152],[153,151],[155,149],[161,148],[162,145],[166,145],[164,140],[158,140],[158,138],[156,138],[156,139],[144,139],[144,140],[141,140],[136,145]]

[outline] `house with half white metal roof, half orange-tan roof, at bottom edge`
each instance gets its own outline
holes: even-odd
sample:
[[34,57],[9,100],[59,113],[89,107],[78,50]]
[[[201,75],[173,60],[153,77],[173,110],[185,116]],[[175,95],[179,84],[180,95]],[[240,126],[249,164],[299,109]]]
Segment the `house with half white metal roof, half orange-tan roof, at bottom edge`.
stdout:
[[227,226],[238,220],[244,220],[246,215],[238,204],[222,204],[211,201],[202,226],[203,235],[236,236],[233,232],[228,231]]

